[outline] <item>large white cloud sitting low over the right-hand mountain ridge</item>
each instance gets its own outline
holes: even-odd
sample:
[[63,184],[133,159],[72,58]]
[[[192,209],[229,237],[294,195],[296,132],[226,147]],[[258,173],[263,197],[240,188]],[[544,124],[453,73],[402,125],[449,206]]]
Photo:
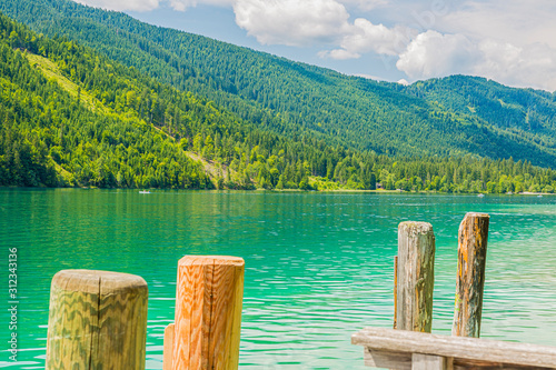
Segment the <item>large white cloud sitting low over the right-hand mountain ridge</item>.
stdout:
[[423,32],[399,56],[396,67],[411,79],[463,73],[515,87],[556,89],[556,50],[536,43],[524,48],[463,34]]

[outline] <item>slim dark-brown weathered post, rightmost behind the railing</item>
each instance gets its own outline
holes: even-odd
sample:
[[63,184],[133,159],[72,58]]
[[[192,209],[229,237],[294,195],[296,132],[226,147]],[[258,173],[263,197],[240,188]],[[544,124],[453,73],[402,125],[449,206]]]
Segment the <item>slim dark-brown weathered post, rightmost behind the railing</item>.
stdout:
[[459,224],[453,336],[480,334],[489,219],[487,213],[467,213]]

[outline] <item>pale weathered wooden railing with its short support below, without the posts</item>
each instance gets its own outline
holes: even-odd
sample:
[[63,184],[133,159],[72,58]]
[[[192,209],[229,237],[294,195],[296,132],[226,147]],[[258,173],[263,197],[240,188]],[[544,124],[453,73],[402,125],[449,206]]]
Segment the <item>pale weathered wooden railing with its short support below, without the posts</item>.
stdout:
[[554,369],[556,347],[366,328],[351,336],[365,364],[399,370]]

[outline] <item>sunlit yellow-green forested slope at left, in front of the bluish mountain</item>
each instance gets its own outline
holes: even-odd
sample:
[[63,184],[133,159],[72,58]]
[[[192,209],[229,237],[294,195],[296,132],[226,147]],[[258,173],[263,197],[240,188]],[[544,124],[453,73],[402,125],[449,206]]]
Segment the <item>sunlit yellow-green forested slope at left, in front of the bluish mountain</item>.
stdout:
[[327,160],[351,158],[260,131],[212,101],[2,14],[0,51],[3,186],[250,189],[281,179],[308,189],[311,169],[324,163],[326,173]]

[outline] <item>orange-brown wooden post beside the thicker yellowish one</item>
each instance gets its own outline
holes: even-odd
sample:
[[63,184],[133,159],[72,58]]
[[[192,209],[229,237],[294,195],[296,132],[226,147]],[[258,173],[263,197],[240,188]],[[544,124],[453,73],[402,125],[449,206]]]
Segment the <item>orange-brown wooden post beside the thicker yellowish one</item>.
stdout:
[[237,257],[179,261],[171,369],[238,368],[244,271]]

